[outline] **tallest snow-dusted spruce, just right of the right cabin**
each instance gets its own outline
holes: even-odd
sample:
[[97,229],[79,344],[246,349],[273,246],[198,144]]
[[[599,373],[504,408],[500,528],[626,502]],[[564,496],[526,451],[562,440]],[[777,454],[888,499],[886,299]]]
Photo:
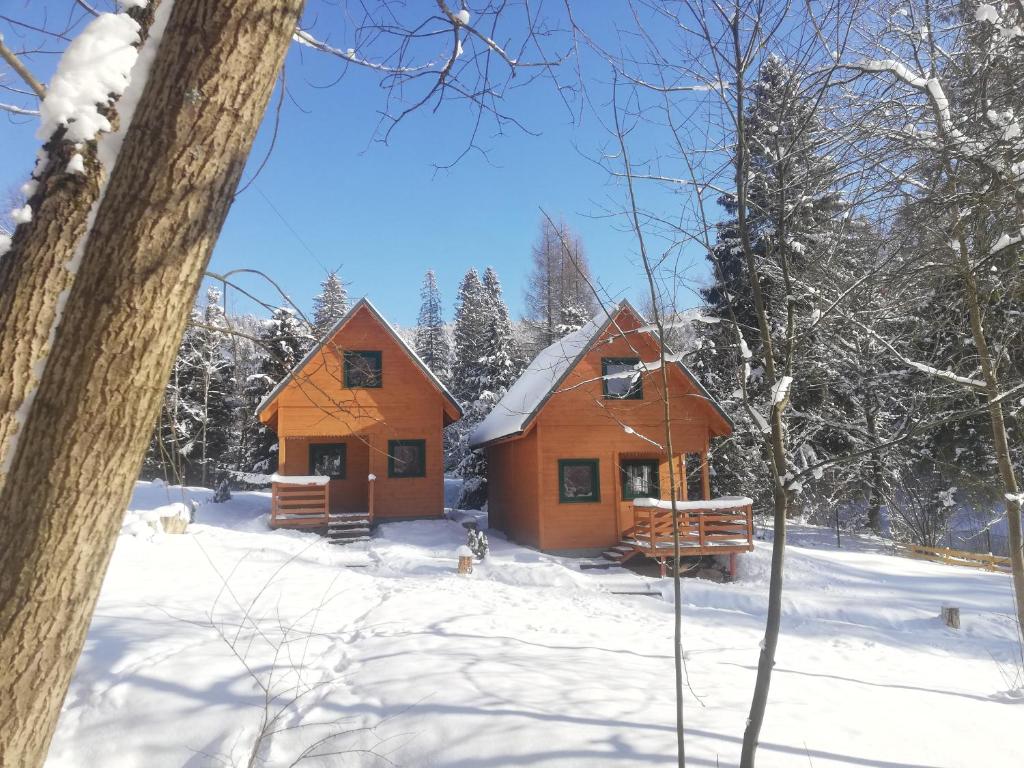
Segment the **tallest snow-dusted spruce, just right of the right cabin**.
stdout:
[[[794,318],[798,339],[800,376],[793,383],[793,416],[788,420],[788,462],[807,466],[850,449],[845,424],[852,418],[852,403],[831,386],[836,371],[822,344],[826,329],[818,323],[820,311],[815,286],[843,248],[846,206],[838,194],[835,161],[822,151],[824,130],[813,99],[801,92],[801,80],[779,58],[768,56],[751,85],[746,109],[749,147],[749,198],[745,210],[757,273],[764,295],[770,331],[785,335]],[[733,437],[714,457],[715,484],[719,489],[751,493],[767,503],[772,482],[764,461],[763,426],[754,423],[743,408],[737,372],[745,377],[749,400],[755,412],[769,410],[775,382],[764,377],[764,349],[757,333],[736,338],[740,329],[757,329],[753,291],[736,218],[737,203],[723,196],[720,203],[730,215],[718,227],[710,259],[713,284],[703,291],[711,316],[726,321],[706,326],[697,369],[711,391],[721,397],[736,418]],[[785,264],[794,290],[786,292]],[[812,331],[813,329],[813,331]],[[775,350],[780,362],[783,346]],[[729,406],[729,402],[733,407]],[[759,497],[759,498],[758,498]]]

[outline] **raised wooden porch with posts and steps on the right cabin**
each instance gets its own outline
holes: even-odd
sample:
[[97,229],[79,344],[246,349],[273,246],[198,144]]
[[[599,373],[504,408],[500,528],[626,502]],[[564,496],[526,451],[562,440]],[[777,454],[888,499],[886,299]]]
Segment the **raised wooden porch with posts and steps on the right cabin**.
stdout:
[[[730,573],[735,573],[735,556],[754,549],[753,501],[746,497],[722,497],[677,501],[679,516],[679,557],[729,555]],[[645,555],[667,572],[675,558],[672,531],[672,502],[659,499],[633,500],[633,526],[614,548],[618,562]]]

